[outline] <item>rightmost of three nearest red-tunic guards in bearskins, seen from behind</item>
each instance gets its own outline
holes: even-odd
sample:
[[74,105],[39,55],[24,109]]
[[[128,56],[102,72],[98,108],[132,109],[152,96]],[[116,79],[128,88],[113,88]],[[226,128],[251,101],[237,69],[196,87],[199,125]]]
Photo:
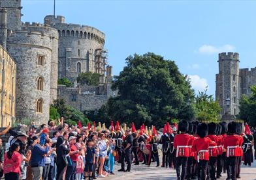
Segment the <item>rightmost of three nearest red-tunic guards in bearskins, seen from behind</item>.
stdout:
[[236,135],[236,122],[228,124],[229,135],[225,138],[223,148],[226,149],[227,157],[227,180],[236,180],[237,164],[236,159],[239,156],[240,138]]

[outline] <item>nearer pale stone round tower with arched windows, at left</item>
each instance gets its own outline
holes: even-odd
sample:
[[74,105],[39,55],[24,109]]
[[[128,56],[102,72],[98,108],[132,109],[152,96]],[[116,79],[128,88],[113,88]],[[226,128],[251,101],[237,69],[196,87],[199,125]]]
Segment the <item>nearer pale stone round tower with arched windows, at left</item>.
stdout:
[[57,99],[57,47],[57,30],[47,25],[25,23],[8,34],[7,49],[17,63],[16,118],[49,120]]

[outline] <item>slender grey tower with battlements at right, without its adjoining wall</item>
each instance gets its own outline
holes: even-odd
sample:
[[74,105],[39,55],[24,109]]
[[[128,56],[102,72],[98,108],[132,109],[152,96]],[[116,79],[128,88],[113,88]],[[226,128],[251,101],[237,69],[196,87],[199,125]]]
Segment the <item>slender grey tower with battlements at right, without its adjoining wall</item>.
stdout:
[[216,99],[222,109],[221,115],[236,115],[240,99],[239,54],[220,53],[218,62]]

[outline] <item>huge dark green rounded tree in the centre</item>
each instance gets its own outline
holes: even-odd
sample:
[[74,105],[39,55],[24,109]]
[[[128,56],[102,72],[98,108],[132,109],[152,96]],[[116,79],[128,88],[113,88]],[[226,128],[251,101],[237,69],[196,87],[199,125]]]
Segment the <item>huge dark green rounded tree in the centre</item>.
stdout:
[[141,123],[162,127],[170,117],[194,117],[189,104],[194,92],[174,61],[146,53],[130,56],[126,63],[112,86],[118,96],[103,107],[109,119],[135,122],[137,127]]

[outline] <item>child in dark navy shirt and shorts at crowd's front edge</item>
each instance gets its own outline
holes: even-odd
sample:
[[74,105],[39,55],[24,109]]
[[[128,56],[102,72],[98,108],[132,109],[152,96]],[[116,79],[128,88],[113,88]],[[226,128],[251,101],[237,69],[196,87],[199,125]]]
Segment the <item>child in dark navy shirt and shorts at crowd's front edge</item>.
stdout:
[[93,140],[88,139],[88,146],[86,147],[86,168],[84,169],[84,179],[88,176],[89,172],[89,180],[91,180],[91,175],[93,174],[93,164],[95,163],[95,148],[93,148]]

